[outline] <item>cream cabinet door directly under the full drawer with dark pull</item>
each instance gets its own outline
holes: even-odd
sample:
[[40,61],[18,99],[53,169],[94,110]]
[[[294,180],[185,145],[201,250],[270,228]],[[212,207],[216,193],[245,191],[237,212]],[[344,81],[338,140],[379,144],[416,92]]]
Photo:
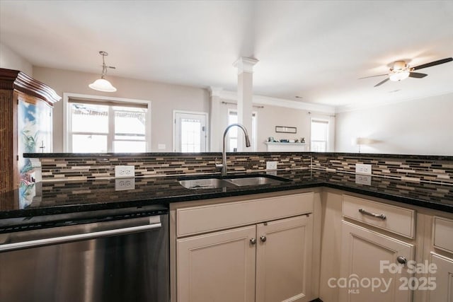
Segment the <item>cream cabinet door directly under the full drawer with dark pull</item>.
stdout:
[[[340,278],[329,279],[329,286],[340,288],[340,301],[411,301],[411,291],[400,289],[400,278],[411,275],[396,258],[413,260],[413,245],[346,221],[342,223],[342,234]],[[399,268],[400,272],[396,270]]]

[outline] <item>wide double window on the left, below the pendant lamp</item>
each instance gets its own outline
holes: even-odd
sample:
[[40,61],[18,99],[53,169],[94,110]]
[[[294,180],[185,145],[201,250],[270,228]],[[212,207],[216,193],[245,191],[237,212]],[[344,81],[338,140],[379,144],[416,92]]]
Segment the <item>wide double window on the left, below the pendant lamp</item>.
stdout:
[[147,152],[149,104],[68,100],[67,148],[72,153]]

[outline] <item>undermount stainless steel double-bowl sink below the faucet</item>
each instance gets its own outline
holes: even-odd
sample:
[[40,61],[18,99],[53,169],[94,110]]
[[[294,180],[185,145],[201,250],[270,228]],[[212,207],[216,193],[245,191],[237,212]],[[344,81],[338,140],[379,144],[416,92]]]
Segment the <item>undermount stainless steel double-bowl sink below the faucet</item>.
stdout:
[[258,176],[234,176],[231,178],[195,178],[179,180],[180,185],[187,189],[217,189],[219,187],[243,187],[254,185],[269,185],[288,182],[285,178],[277,178],[269,175]]

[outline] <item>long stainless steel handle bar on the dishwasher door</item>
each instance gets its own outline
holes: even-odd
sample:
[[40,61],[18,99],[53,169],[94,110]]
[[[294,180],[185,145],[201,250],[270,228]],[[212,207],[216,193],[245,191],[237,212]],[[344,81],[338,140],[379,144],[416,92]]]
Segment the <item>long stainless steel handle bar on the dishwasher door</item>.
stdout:
[[147,224],[144,226],[132,226],[129,228],[117,228],[117,229],[107,230],[107,231],[81,233],[81,234],[75,234],[75,235],[69,235],[69,236],[23,241],[23,242],[19,242],[19,243],[6,243],[3,245],[0,245],[0,252],[6,252],[6,251],[11,251],[11,250],[22,250],[24,248],[35,248],[38,246],[52,245],[52,244],[58,244],[58,243],[69,243],[72,241],[89,240],[89,239],[121,235],[121,234],[127,234],[127,233],[137,233],[137,232],[142,232],[142,231],[148,231],[148,230],[151,230],[154,228],[161,228],[161,226],[162,226],[162,223],[152,223],[152,224]]

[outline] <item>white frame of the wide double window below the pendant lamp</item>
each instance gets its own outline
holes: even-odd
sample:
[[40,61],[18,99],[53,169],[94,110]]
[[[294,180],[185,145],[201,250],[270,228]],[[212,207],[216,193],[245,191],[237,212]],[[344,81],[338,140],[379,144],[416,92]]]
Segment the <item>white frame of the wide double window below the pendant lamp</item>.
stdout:
[[[71,101],[70,101],[71,100]],[[74,103],[80,102],[84,103],[98,103],[99,105],[105,102],[105,105],[109,106],[109,116],[110,112],[114,112],[113,106],[125,106],[130,107],[131,104],[144,105],[147,108],[145,112],[146,122],[145,122],[145,152],[151,151],[151,100],[138,100],[132,98],[114,98],[103,95],[84,95],[79,93],[63,93],[63,152],[72,153],[72,142],[71,134],[77,133],[72,132],[71,129],[71,104],[74,100]],[[112,120],[109,118],[109,132],[108,137],[108,151],[107,153],[113,153],[113,144],[109,146],[109,141],[115,141],[115,133],[110,133],[110,128],[112,126]],[[97,132],[90,132],[91,134],[97,134]],[[85,132],[84,132],[85,134]],[[103,133],[105,135],[105,133]]]

